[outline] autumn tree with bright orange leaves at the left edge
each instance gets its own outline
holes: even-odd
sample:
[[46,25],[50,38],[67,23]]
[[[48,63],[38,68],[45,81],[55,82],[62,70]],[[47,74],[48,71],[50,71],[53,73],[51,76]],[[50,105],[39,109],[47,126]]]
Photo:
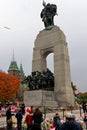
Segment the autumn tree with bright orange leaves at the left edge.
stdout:
[[11,74],[0,72],[0,100],[12,100],[19,90],[20,80]]

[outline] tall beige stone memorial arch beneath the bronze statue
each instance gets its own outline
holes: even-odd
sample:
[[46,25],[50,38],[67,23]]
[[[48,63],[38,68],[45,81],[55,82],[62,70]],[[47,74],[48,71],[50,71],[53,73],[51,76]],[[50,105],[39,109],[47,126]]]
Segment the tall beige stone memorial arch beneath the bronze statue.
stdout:
[[59,106],[74,106],[68,47],[66,37],[58,26],[51,30],[42,30],[37,35],[33,48],[32,71],[46,70],[46,58],[50,53],[54,53],[55,100]]

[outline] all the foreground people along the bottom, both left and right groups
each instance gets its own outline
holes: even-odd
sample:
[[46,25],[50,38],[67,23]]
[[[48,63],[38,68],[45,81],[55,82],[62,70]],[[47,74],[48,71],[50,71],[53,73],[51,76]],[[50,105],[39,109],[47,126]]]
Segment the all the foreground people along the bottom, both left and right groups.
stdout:
[[[12,127],[12,116],[10,106],[6,110],[6,122],[7,130],[13,130]],[[25,105],[22,104],[18,108],[16,114],[14,115],[17,119],[17,130],[22,130],[22,119],[25,115],[24,123],[27,125],[27,130],[42,130],[41,123],[43,122],[43,114],[39,108],[33,110],[33,107],[30,107],[26,110]],[[87,112],[84,113],[83,121],[87,129]],[[80,123],[76,121],[76,116],[72,113],[67,113],[65,115],[65,122],[61,122],[61,117],[58,112],[53,117],[53,126],[55,130],[83,130]]]

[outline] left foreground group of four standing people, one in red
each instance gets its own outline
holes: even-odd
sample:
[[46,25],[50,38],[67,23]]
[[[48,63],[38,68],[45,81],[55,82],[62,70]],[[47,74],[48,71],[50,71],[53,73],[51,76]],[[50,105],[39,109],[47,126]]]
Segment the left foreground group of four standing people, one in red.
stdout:
[[27,130],[34,130],[35,128],[38,128],[37,130],[41,130],[41,123],[43,121],[43,114],[40,111],[39,108],[36,108],[33,111],[33,107],[28,108],[25,113],[25,106],[24,104],[22,107],[19,107],[16,114],[11,113],[10,106],[7,107],[6,110],[6,122],[7,122],[7,130],[13,130],[12,127],[12,116],[14,115],[17,119],[17,130],[22,130],[22,119],[23,115],[25,115],[24,123],[27,125]]

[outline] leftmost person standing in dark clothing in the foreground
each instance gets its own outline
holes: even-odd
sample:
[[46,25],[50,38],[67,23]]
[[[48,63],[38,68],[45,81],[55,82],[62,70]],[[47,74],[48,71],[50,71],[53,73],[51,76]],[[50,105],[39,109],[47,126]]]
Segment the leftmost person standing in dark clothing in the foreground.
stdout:
[[11,107],[8,105],[6,110],[6,123],[7,123],[7,130],[12,130],[12,113]]

